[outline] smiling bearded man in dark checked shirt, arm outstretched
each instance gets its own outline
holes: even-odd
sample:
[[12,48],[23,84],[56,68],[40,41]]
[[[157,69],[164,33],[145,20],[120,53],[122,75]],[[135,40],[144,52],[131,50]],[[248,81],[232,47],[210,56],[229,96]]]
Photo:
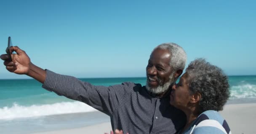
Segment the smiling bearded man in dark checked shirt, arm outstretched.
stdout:
[[187,58],[177,44],[160,44],[153,50],[146,68],[146,86],[132,82],[109,87],[91,85],[37,67],[17,46],[10,51],[17,53],[12,54],[11,62],[7,54],[1,55],[8,71],[28,75],[43,83],[46,90],[106,113],[113,130],[122,129],[125,134],[174,134],[186,122],[184,113],[169,105],[169,89],[182,74]]

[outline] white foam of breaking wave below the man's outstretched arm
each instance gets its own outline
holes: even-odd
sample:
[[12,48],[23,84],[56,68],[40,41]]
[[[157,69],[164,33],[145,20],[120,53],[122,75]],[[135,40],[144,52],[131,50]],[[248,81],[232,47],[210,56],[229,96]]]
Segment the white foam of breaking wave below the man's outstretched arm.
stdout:
[[0,108],[0,120],[90,111],[96,111],[96,109],[79,101],[32,106],[20,106],[13,103],[11,107]]

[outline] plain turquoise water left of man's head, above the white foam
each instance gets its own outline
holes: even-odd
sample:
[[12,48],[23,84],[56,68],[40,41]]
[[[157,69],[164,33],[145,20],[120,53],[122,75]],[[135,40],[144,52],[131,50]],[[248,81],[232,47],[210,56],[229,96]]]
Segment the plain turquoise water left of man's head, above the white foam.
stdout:
[[[93,85],[116,85],[124,81],[132,81],[145,85],[146,78],[94,78],[80,79],[91,82]],[[40,82],[36,80],[0,80],[0,108],[10,107],[13,104],[21,106],[53,104],[63,101],[71,101],[63,96],[58,96],[44,90]]]

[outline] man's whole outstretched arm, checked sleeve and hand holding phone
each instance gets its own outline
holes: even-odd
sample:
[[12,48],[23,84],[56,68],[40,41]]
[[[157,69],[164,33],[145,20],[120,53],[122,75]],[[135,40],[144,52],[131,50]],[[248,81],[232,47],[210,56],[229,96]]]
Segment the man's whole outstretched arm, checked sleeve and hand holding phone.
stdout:
[[126,89],[133,89],[134,84],[123,83],[109,87],[95,86],[83,82],[75,77],[60,75],[50,70],[43,70],[32,64],[30,58],[18,46],[10,48],[12,61],[8,62],[8,54],[0,56],[3,59],[6,69],[19,75],[28,75],[43,83],[43,88],[63,95],[72,100],[84,102],[99,111],[111,115],[117,109],[120,100],[126,93]]

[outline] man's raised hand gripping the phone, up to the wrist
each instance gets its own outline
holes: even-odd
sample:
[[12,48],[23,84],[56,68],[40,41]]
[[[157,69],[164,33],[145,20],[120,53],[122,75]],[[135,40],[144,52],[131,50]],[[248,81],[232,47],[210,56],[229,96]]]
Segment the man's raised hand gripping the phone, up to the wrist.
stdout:
[[6,61],[9,57],[8,54],[2,54],[0,56],[1,59],[3,59],[4,65],[6,66],[6,69],[10,72],[14,72],[16,74],[28,74],[29,67],[31,65],[30,59],[27,56],[26,52],[19,49],[18,46],[12,46],[10,48],[11,52],[16,52],[17,54],[11,54],[12,61],[8,62]]

